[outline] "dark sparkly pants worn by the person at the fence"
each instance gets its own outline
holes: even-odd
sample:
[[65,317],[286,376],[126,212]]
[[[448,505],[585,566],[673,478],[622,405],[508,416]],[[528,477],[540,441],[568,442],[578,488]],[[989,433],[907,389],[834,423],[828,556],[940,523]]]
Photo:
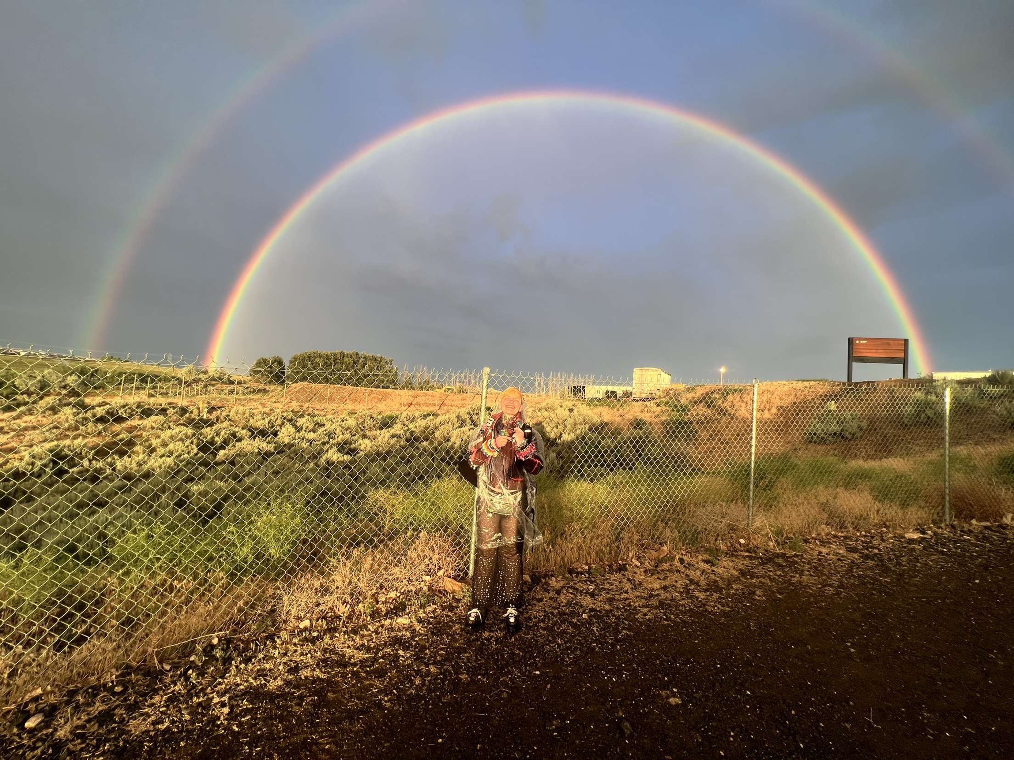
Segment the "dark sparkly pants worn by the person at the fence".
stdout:
[[479,507],[472,606],[518,607],[521,603],[524,535],[520,521]]

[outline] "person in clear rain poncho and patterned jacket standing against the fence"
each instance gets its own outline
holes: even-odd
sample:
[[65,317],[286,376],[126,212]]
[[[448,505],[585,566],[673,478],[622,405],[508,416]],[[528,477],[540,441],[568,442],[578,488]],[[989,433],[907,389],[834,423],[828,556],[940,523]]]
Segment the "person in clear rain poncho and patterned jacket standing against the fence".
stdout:
[[523,551],[541,543],[535,525],[534,475],[542,469],[542,438],[525,422],[524,396],[511,387],[500,395],[500,411],[480,428],[468,461],[479,470],[476,501],[476,556],[472,605],[466,618],[475,630],[490,607],[505,607],[507,629],[521,618]]

